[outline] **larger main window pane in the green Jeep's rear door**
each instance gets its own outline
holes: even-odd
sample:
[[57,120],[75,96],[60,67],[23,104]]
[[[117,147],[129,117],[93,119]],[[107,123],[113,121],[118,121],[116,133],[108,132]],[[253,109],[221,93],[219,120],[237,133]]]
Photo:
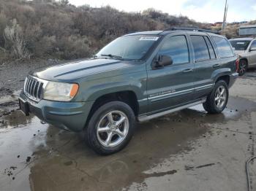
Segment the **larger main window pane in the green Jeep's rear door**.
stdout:
[[210,59],[208,47],[203,36],[190,36],[195,54],[195,61],[206,61]]

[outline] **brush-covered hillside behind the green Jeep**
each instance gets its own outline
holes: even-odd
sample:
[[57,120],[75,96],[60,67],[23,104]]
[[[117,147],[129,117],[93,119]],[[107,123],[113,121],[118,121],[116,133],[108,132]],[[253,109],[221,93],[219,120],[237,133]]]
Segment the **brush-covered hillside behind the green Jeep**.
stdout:
[[[112,7],[75,7],[67,0],[0,0],[0,59],[2,63],[28,58],[84,58],[117,36],[170,26],[214,28],[154,9],[128,13]],[[237,36],[237,28],[228,26],[227,37]]]

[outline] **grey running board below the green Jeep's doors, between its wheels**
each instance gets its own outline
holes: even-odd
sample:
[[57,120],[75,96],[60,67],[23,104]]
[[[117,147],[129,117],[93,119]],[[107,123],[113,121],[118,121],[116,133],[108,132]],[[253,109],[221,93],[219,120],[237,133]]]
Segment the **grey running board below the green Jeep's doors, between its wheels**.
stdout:
[[195,106],[195,105],[198,105],[198,104],[203,104],[204,102],[206,102],[206,98],[203,98],[200,101],[194,102],[192,104],[187,104],[187,105],[184,105],[184,106],[179,106],[179,107],[176,107],[176,108],[173,108],[173,109],[169,109],[169,110],[164,111],[164,112],[159,112],[157,114],[141,115],[141,116],[138,117],[138,121],[139,122],[148,121],[148,120],[160,117],[160,116],[165,115],[165,114],[170,114],[170,113],[173,113],[173,112],[177,112],[177,111],[179,111],[181,109],[186,109],[186,108],[191,107],[191,106]]

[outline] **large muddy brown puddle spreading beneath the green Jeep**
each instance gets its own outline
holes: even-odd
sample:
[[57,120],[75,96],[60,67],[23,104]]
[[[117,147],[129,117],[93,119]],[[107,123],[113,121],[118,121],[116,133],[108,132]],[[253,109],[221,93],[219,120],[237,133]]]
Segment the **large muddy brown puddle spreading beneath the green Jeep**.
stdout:
[[176,174],[178,169],[151,175],[144,172],[171,155],[193,149],[191,142],[200,144],[210,130],[207,123],[236,120],[245,108],[255,105],[231,98],[222,114],[206,114],[202,106],[194,106],[140,123],[127,147],[106,157],[89,149],[82,134],[42,125],[37,117],[13,112],[3,118],[0,129],[0,190],[120,190],[149,176]]

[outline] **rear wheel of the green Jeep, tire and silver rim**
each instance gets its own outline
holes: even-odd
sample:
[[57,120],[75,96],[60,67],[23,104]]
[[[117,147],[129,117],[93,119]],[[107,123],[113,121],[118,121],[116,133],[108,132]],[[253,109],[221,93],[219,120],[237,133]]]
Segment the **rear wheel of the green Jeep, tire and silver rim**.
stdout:
[[203,103],[203,108],[210,114],[221,113],[225,109],[225,106],[227,106],[228,94],[227,83],[223,80],[219,80],[214,85],[214,89],[211,90],[211,93],[207,96],[206,102]]

